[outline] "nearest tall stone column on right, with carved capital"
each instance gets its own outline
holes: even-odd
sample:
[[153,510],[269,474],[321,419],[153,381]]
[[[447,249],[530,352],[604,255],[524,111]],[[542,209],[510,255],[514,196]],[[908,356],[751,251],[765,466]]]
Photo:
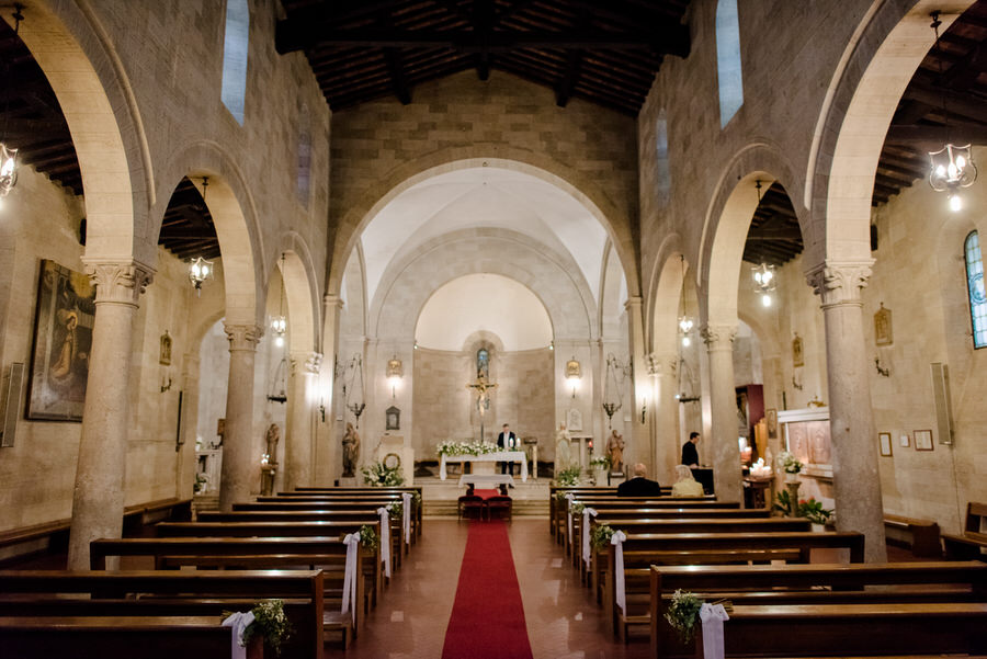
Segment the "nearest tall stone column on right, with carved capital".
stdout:
[[881,563],[887,558],[884,504],[867,380],[872,366],[864,346],[860,299],[860,289],[871,276],[871,263],[827,262],[809,271],[807,279],[822,298],[826,323],[837,529],[863,533],[866,560]]

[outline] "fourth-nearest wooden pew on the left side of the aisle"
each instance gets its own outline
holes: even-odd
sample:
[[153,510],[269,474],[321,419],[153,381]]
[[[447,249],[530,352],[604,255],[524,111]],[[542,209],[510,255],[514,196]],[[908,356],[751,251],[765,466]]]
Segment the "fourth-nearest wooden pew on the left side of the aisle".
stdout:
[[[361,526],[374,530],[379,541],[379,518],[367,522],[162,522],[155,526],[158,537],[342,537]],[[379,542],[366,552],[364,569],[370,579],[371,606],[376,606],[384,588]]]

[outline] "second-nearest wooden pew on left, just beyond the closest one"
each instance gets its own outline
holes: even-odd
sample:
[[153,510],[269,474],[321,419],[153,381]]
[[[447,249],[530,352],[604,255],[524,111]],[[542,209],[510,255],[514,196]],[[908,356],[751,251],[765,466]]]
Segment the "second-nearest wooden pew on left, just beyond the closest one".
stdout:
[[[214,616],[284,601],[294,634],[284,659],[322,656],[324,628],[352,632],[349,615],[324,610],[321,570],[0,571],[0,618]],[[328,622],[328,625],[327,625]]]

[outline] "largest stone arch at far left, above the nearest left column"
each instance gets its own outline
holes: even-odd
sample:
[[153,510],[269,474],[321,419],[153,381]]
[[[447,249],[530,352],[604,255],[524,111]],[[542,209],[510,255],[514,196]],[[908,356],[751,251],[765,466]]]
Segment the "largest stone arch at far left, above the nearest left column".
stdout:
[[152,265],[157,246],[146,229],[154,173],[120,57],[88,4],[24,4],[19,35],[58,99],[82,174],[86,255]]

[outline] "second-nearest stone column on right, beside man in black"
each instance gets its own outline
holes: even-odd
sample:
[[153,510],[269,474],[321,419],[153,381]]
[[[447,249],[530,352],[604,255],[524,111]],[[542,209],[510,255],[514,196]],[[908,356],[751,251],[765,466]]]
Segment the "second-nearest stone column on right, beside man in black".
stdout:
[[713,486],[721,501],[744,501],[740,482],[740,446],[737,443],[737,393],[734,386],[736,325],[705,325],[703,341],[710,356],[711,436],[700,444],[703,462],[713,463]]

